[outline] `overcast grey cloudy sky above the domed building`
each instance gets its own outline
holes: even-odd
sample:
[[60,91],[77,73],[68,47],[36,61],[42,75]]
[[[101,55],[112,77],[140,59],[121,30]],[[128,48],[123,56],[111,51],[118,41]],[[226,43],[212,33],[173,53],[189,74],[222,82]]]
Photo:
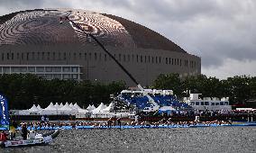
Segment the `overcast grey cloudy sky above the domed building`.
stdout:
[[0,15],[35,8],[121,16],[201,57],[206,76],[256,76],[256,0],[0,0]]

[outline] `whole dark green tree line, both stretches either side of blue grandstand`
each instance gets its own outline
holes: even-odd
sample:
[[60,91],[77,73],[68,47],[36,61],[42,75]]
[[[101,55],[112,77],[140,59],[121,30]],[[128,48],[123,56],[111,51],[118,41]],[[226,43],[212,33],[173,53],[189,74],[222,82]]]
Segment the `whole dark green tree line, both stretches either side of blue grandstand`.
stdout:
[[[53,103],[88,104],[108,103],[110,94],[127,88],[125,82],[104,84],[96,81],[46,80],[32,74],[0,76],[0,93],[5,94],[11,109],[28,109],[32,104],[45,108]],[[230,97],[231,103],[244,103],[256,97],[256,76],[233,76],[226,79],[205,75],[179,77],[178,74],[158,76],[151,88],[172,89],[178,98],[188,93],[205,97]],[[189,92],[188,92],[189,91]]]

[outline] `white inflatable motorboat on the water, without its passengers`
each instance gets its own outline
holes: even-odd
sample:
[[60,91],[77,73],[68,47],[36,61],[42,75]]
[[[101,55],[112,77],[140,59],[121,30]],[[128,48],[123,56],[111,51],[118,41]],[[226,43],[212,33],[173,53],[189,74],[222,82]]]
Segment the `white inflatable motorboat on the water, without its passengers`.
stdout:
[[53,130],[45,134],[37,134],[34,139],[14,139],[0,141],[0,145],[2,148],[47,145],[58,135],[59,130]]

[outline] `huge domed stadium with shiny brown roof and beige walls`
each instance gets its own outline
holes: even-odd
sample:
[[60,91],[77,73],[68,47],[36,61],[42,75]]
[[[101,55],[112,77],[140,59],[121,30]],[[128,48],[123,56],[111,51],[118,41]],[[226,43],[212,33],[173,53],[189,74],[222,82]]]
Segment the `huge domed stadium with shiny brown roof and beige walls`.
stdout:
[[[59,23],[68,14],[83,31],[68,21]],[[142,85],[151,85],[160,74],[201,73],[201,58],[138,23],[86,10],[36,9],[0,16],[0,74],[105,83],[123,80],[134,85],[87,33]]]

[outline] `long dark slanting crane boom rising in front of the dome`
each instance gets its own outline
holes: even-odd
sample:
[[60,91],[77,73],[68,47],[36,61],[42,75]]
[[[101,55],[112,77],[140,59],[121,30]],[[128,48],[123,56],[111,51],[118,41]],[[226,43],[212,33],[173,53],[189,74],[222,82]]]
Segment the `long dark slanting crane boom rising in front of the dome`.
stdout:
[[[129,76],[129,77],[133,80],[133,83],[135,83],[141,90],[143,90],[142,85],[140,85],[140,84],[138,83],[138,81],[128,72],[128,70],[127,70],[125,67],[123,67],[123,65],[122,65],[116,58],[114,58],[114,56],[113,56],[107,49],[105,49],[104,45],[103,45],[99,40],[97,40],[96,37],[95,37],[93,34],[87,33],[87,31],[85,31],[80,25],[78,25],[77,23],[75,23],[74,21],[72,21],[72,20],[69,19],[69,15],[70,15],[70,14],[71,14],[71,11],[69,11],[69,14],[64,17],[64,20],[68,20],[68,21],[69,21],[70,23],[72,23],[76,28],[78,28],[78,30],[83,31],[85,34],[87,34],[87,36],[90,36],[93,40],[95,40],[96,43],[101,47],[101,49],[103,49],[103,50],[105,51],[105,53],[106,53],[108,56],[110,56],[110,57],[114,60],[114,62],[115,62],[119,67],[122,68],[122,70],[125,72],[125,74],[126,74],[127,76]],[[62,19],[63,19],[63,18],[60,17],[60,23],[62,23]]]

